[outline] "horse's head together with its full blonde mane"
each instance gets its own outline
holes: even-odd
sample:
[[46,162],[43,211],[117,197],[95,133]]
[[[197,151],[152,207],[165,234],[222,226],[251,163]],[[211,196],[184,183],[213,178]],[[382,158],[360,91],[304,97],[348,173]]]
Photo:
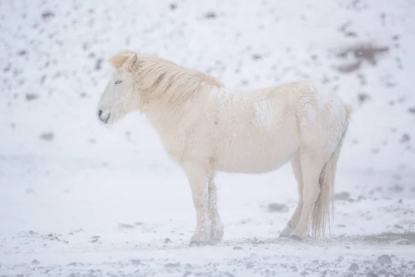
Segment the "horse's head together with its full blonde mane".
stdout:
[[[124,50],[111,57],[114,72],[102,93],[97,114],[102,123],[115,123],[131,111],[144,113],[179,109],[202,82],[223,87],[216,78],[185,69],[160,57]],[[157,108],[155,108],[157,107]]]

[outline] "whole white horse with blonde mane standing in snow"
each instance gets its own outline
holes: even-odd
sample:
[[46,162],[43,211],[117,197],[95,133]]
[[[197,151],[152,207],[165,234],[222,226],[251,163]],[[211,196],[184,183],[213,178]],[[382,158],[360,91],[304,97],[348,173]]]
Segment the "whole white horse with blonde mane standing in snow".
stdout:
[[113,74],[98,104],[102,123],[145,114],[170,159],[185,171],[196,210],[190,245],[223,238],[215,172],[260,173],[291,161],[299,202],[280,233],[324,235],[333,210],[335,170],[351,107],[321,84],[289,82],[231,92],[212,76],[133,51],[109,60]]

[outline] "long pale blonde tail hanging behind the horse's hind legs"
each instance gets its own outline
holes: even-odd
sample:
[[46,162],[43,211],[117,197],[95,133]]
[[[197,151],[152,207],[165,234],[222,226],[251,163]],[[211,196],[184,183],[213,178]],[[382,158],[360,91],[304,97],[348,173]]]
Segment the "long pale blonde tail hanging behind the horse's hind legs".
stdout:
[[338,142],[333,154],[331,154],[329,161],[326,162],[322,172],[320,173],[320,193],[315,201],[312,217],[311,217],[311,231],[313,238],[324,235],[326,226],[330,231],[330,220],[333,217],[334,210],[334,181],[335,171],[342,150],[344,136],[346,136],[349,127],[352,107],[345,105],[346,109],[346,123],[344,125],[343,134]]

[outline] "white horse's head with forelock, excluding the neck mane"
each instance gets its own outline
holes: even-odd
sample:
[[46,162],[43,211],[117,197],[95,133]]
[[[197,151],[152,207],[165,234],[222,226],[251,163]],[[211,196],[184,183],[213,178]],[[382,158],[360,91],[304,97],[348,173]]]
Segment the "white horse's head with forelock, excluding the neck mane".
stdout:
[[130,111],[138,109],[139,103],[139,93],[133,80],[133,72],[138,63],[137,55],[132,51],[122,51],[109,62],[114,71],[100,97],[96,111],[98,119],[104,124],[115,123]]

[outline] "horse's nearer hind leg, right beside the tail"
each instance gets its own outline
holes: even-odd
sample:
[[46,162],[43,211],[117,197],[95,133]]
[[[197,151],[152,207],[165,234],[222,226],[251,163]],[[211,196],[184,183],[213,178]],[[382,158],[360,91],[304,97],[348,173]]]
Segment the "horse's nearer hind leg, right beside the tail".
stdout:
[[303,179],[303,208],[299,217],[299,222],[290,238],[301,240],[308,233],[308,222],[313,212],[315,201],[320,193],[320,174],[325,163],[325,159],[313,150],[304,150],[299,153],[299,160],[302,168]]

